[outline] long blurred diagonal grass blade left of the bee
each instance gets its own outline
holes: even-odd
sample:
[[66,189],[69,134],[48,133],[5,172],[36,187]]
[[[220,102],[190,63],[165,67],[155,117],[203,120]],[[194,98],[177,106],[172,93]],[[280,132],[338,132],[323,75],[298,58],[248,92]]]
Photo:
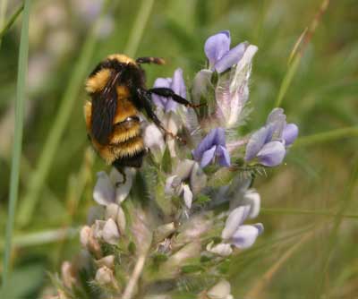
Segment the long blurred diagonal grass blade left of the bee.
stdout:
[[[105,7],[107,7],[107,3]],[[80,59],[74,66],[72,77],[70,78],[67,89],[64,91],[64,96],[61,99],[58,113],[55,115],[55,120],[48,133],[47,141],[45,142],[41,155],[39,156],[38,166],[36,167],[35,172],[30,176],[30,181],[27,185],[27,192],[21,203],[21,209],[19,211],[18,221],[20,226],[26,226],[30,223],[33,211],[39,199],[39,193],[47,179],[51,163],[55,157],[55,152],[58,149],[58,144],[61,141],[70,118],[72,107],[78,94],[80,93],[83,85],[82,81],[84,80],[90,66],[90,58],[94,53],[98,40],[96,32],[100,22],[102,21],[101,16],[106,12],[107,9],[104,9],[90,30],[90,34],[86,38],[81,49]]]

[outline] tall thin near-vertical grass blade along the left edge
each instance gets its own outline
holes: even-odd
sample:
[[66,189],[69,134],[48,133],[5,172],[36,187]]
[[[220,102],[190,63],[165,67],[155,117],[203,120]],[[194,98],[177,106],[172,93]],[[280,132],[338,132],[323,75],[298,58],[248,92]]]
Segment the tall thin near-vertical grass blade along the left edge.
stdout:
[[13,134],[13,160],[10,176],[10,196],[9,211],[6,221],[6,235],[4,248],[4,269],[3,269],[3,286],[6,285],[9,277],[10,257],[13,242],[13,225],[15,218],[16,202],[19,192],[19,177],[22,148],[22,131],[23,131],[23,114],[25,102],[26,76],[28,73],[28,56],[29,56],[29,19],[30,19],[31,0],[25,2],[19,51],[19,66],[17,74],[17,90],[15,103],[15,131]]

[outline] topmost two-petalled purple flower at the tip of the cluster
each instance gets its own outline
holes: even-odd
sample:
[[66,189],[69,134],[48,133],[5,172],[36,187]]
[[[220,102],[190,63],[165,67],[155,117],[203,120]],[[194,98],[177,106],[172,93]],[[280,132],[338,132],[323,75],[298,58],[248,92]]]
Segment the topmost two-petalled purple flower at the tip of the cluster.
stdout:
[[209,59],[209,68],[217,73],[223,73],[243,57],[248,44],[240,43],[230,49],[230,32],[228,30],[218,32],[207,39],[204,50]]

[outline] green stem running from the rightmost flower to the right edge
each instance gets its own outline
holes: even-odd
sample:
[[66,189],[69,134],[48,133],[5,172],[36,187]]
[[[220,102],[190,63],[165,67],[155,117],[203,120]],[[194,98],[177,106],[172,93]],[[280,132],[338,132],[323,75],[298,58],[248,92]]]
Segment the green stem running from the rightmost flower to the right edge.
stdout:
[[358,136],[358,126],[337,129],[330,132],[320,132],[311,136],[304,136],[294,142],[294,147],[304,147],[311,144],[317,144],[328,141],[336,141],[337,139],[345,137]]

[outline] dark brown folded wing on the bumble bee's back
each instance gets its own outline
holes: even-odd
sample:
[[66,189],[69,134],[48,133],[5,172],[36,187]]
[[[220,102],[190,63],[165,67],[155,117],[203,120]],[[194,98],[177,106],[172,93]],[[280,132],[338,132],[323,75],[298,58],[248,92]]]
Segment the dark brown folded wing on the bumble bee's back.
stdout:
[[92,98],[92,126],[93,137],[100,143],[106,144],[112,133],[115,111],[117,108],[117,92],[115,81],[118,73],[111,75],[102,92]]

